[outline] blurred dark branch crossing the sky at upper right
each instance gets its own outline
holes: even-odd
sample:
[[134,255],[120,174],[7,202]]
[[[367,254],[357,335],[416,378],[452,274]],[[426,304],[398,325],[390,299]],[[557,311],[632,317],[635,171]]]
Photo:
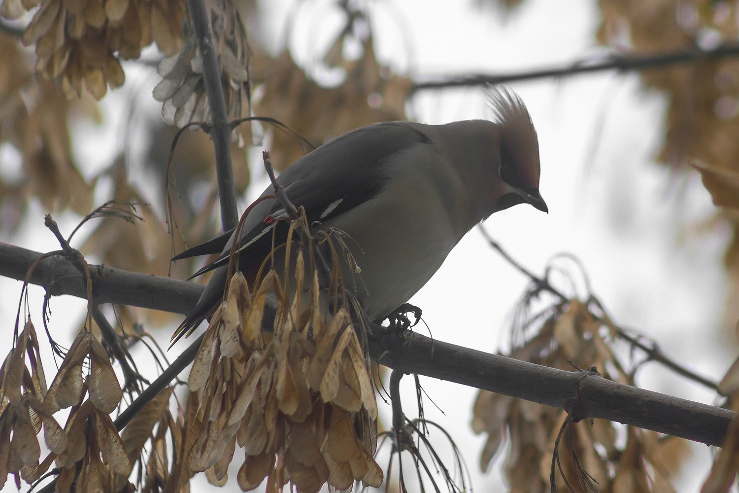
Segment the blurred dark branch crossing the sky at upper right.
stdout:
[[721,44],[713,50],[700,50],[698,47],[689,47],[671,52],[651,53],[648,55],[610,55],[604,61],[590,63],[588,60],[575,61],[564,67],[550,69],[534,69],[528,72],[514,72],[510,74],[479,74],[458,75],[444,77],[437,80],[416,81],[411,91],[421,89],[446,89],[448,87],[482,86],[485,84],[504,84],[514,81],[530,81],[539,78],[565,77],[568,75],[584,74],[589,72],[603,72],[605,70],[650,69],[665,65],[684,64],[696,61],[717,60],[728,56],[739,55],[739,44]]

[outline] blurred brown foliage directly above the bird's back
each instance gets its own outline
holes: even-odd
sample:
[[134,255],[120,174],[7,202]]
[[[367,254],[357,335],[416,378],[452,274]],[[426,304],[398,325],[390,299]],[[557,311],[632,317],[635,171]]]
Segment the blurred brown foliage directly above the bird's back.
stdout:
[[[315,146],[370,123],[406,120],[412,81],[378,64],[368,26],[367,13],[349,10],[347,23],[324,55],[326,67],[341,68],[346,74],[336,87],[311,80],[287,50],[275,58],[256,55],[253,84],[262,86],[263,95],[255,101],[255,114],[276,118]],[[345,58],[347,43],[360,45],[361,56]],[[304,154],[296,139],[284,132],[272,133],[270,152],[280,171]]]

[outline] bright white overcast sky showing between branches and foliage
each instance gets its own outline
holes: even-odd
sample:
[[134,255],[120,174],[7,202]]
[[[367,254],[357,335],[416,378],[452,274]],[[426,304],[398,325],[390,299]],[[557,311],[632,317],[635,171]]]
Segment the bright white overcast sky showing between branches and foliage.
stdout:
[[[265,11],[268,20],[263,32],[276,47],[287,13],[296,2],[264,3],[269,4],[269,10]],[[443,75],[546,67],[602,52],[594,47],[598,13],[592,1],[525,0],[505,21],[490,9],[474,7],[474,3],[372,2],[379,60],[401,71],[412,67],[418,75]],[[291,47],[302,63],[312,59],[310,47],[325,46],[341,23],[328,5],[327,1],[306,2],[300,10],[302,20],[296,23]],[[403,36],[410,40],[409,46]],[[141,69],[126,65],[126,70],[129,81],[146,79],[137,76],[137,72],[146,73]],[[154,82],[149,77],[142,84]],[[488,231],[537,273],[554,254],[578,256],[594,293],[616,323],[653,336],[670,356],[703,375],[720,379],[736,353],[735,341],[727,340],[720,331],[726,296],[721,256],[729,231],[714,228],[695,232],[691,226],[715,213],[709,195],[695,175],[674,179],[653,162],[663,132],[664,98],[641,92],[635,75],[613,73],[511,87],[519,92],[537,126],[541,192],[550,213],[518,205],[494,214],[486,222]],[[109,93],[103,100],[103,126],[75,127],[79,138],[75,154],[88,176],[108,166],[120,149],[118,120],[125,115],[126,104],[121,92]],[[151,100],[147,104],[154,105]],[[486,116],[480,89],[421,92],[413,100],[413,109],[424,123]],[[10,165],[0,160],[0,166]],[[140,176],[134,180],[146,181]],[[255,190],[261,191],[263,186],[256,174]],[[106,199],[106,193],[105,186],[99,187],[98,203]],[[69,231],[79,220],[73,214],[56,219],[62,231]],[[38,203],[32,205],[16,236],[0,240],[37,251],[58,248],[43,227]],[[526,279],[473,230],[411,302],[423,309],[423,318],[436,339],[494,352],[505,349],[508,316],[525,285]],[[20,286],[19,282],[0,279],[0,333],[6,341],[15,321]],[[31,293],[31,306],[40,307],[42,290],[32,288]],[[52,301],[52,327],[61,341],[71,339],[84,305],[84,301],[66,296]],[[37,330],[42,330],[40,309],[33,316]],[[170,332],[161,330],[160,340],[167,341]],[[174,358],[177,348],[171,353]],[[47,374],[52,374],[51,360],[46,367]],[[657,364],[644,367],[637,381],[650,390],[684,398],[706,403],[714,399],[711,392],[670,375]],[[474,489],[504,491],[497,467],[482,475],[477,466],[485,441],[469,426],[477,390],[429,378],[422,378],[422,383],[446,412],[440,415],[427,404],[428,417],[445,426],[457,441],[471,469]],[[403,380],[403,390],[406,414],[412,417],[412,378]],[[389,422],[389,407],[382,412]],[[692,451],[689,467],[673,485],[678,492],[698,489],[709,469],[709,449],[694,444]],[[228,486],[233,491],[238,490],[235,475],[239,465],[235,458]],[[193,491],[212,488],[202,476],[192,486]]]

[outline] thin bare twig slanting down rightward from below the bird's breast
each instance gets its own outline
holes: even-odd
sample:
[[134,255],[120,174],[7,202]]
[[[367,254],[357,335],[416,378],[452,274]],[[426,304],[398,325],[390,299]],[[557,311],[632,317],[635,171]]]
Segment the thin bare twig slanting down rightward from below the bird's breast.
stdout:
[[[562,291],[554,288],[554,286],[551,285],[548,279],[537,276],[536,274],[532,273],[527,268],[525,268],[523,265],[521,265],[519,262],[517,262],[513,257],[511,257],[508,254],[508,252],[503,250],[503,247],[500,246],[500,243],[495,241],[488,234],[485,228],[480,226],[480,231],[482,232],[483,237],[485,237],[485,239],[487,240],[488,245],[490,245],[491,248],[493,248],[501,256],[503,256],[503,258],[509,264],[513,265],[514,268],[517,269],[517,271],[520,271],[522,274],[528,277],[531,280],[531,282],[533,282],[534,285],[536,285],[537,290],[546,291],[548,293],[551,293],[557,298],[559,298],[559,300],[562,302],[569,301],[569,297],[565,296],[565,294],[562,293]],[[600,302],[598,302],[597,299],[594,299],[594,301],[596,302],[596,305],[598,305],[599,309],[605,313],[605,309],[602,307]],[[656,341],[650,340],[649,344],[645,344],[644,341],[642,340],[643,338],[639,336],[633,336],[621,327],[616,327],[616,336],[618,336],[619,339],[627,341],[633,347],[638,347],[640,350],[644,351],[649,361],[658,361],[659,363],[664,364],[664,366],[670,368],[670,370],[673,370],[675,373],[678,373],[678,375],[682,375],[685,378],[689,378],[692,381],[698,382],[698,384],[704,385],[705,387],[709,387],[709,389],[718,391],[718,384],[716,384],[714,381],[710,381],[708,378],[702,377],[701,375],[698,375],[697,373],[692,372],[691,370],[688,370],[686,367],[679,364],[677,361],[673,361],[671,358],[669,358],[662,352],[662,350],[659,347],[659,344],[657,344]]]

